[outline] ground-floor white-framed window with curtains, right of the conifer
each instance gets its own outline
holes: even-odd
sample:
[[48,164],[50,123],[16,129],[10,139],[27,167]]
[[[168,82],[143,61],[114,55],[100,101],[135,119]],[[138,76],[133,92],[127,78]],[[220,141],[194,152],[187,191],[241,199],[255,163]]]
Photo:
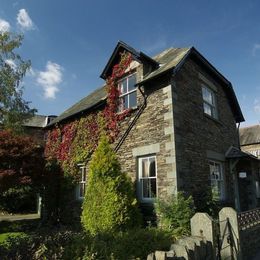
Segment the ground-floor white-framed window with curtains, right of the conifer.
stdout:
[[138,181],[141,201],[153,201],[157,197],[156,156],[138,158]]

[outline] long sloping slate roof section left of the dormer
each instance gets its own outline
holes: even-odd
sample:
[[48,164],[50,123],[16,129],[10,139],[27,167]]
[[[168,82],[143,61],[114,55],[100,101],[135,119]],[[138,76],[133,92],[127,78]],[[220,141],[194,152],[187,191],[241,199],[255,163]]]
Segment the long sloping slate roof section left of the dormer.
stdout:
[[48,124],[47,127],[52,126],[56,123],[59,123],[65,119],[69,119],[70,117],[76,116],[96,105],[99,103],[104,102],[106,99],[106,89],[105,86],[102,86],[101,88],[96,89],[94,92],[92,92],[90,95],[82,98],[79,102],[65,110],[62,114],[60,114],[58,117],[56,117],[54,120],[51,121],[50,124]]

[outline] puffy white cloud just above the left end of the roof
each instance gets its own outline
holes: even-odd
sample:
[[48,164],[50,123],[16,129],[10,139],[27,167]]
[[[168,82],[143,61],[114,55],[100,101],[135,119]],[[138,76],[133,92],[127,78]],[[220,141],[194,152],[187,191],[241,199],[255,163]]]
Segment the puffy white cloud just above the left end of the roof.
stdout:
[[62,82],[62,70],[59,64],[48,61],[45,71],[38,72],[36,81],[43,87],[45,98],[56,98],[56,93],[59,91],[58,85]]

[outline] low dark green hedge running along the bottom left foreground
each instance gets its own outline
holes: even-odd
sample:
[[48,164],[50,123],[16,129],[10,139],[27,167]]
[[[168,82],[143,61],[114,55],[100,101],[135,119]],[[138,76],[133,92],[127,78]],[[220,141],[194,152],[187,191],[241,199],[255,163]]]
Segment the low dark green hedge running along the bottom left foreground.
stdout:
[[155,250],[168,251],[172,234],[155,228],[127,232],[75,233],[41,230],[37,234],[9,235],[0,243],[0,259],[146,259]]

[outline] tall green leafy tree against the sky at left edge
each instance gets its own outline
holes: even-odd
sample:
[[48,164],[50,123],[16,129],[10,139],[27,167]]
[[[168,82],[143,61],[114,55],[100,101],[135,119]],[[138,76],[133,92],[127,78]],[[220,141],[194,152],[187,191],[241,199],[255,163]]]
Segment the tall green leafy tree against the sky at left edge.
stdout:
[[20,83],[31,65],[15,53],[22,39],[21,35],[0,33],[0,124],[14,131],[21,130],[22,123],[36,112],[22,97]]

